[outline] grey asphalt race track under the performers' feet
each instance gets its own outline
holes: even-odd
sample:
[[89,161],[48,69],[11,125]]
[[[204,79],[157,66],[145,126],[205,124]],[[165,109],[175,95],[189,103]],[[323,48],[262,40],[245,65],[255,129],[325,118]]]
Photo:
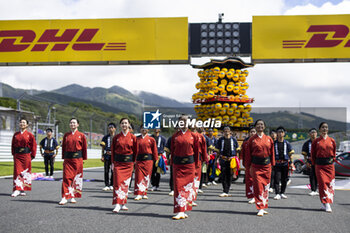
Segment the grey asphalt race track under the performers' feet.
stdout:
[[[149,192],[149,199],[141,201],[129,195],[129,211],[118,214],[112,213],[112,192],[102,191],[103,168],[84,170],[90,182],[84,182],[77,204],[58,205],[62,173],[55,178],[34,181],[27,196],[16,198],[10,197],[12,179],[0,179],[0,232],[350,232],[350,191],[336,191],[329,214],[320,211],[318,196],[288,186],[288,199],[276,201],[270,194],[269,214],[258,217],[240,178],[231,186],[232,197],[218,197],[221,184],[204,188],[189,218],[174,221],[168,174],[162,175],[161,191]],[[291,186],[301,184],[308,184],[307,176],[293,175]]]

